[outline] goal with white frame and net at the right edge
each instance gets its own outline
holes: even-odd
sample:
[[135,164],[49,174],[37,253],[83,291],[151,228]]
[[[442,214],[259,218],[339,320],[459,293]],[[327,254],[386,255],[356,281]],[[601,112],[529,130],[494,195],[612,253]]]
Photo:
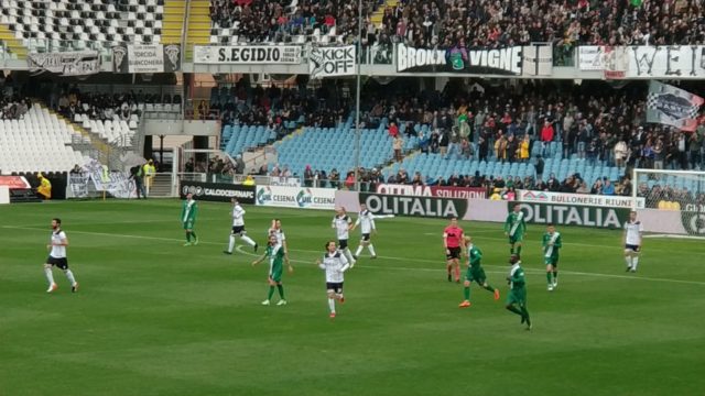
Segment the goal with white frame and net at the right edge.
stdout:
[[705,237],[705,172],[637,168],[632,180],[634,201],[644,202],[639,212],[644,229]]

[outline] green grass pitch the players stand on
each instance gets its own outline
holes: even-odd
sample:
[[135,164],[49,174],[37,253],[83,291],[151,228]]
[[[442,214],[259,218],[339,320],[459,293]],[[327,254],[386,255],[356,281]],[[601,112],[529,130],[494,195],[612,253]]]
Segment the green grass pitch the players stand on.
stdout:
[[[543,228],[523,266],[533,330],[503,308],[509,246],[501,223],[460,222],[485,254],[490,293],[446,280],[446,221],[377,222],[379,258],[346,274],[328,319],[313,263],[333,211],[247,206],[248,234],[286,232],[289,305],[260,305],[267,265],[251,248],[223,254],[229,206],[199,202],[200,243],[184,248],[176,200],[0,207],[0,395],[702,395],[705,244],[648,239],[625,273],[619,231],[558,228],[560,285],[546,292]],[[68,235],[80,290],[47,295],[52,217]],[[358,231],[351,238],[357,248]],[[274,298],[276,301],[276,297]]]

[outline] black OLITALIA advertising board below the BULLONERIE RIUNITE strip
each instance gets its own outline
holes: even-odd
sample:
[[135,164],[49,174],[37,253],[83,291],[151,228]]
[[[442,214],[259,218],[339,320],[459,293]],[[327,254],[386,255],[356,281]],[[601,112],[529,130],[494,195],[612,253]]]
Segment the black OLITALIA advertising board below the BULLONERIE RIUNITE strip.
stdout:
[[[511,211],[518,202],[508,201]],[[604,208],[577,205],[521,202],[524,221],[532,224],[584,226],[606,229],[621,229],[629,219],[627,208]]]

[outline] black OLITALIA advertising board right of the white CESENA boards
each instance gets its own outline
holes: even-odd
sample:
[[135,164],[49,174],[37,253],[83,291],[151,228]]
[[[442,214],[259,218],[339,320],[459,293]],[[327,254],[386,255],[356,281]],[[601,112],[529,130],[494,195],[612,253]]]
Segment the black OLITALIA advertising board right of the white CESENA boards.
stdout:
[[359,194],[360,204],[373,215],[412,216],[426,218],[462,219],[467,211],[467,199]]

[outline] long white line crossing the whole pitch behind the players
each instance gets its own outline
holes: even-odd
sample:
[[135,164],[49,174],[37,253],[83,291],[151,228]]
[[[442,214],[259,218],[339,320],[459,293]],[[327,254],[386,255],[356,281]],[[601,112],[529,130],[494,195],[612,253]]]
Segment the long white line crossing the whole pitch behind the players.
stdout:
[[[17,226],[1,226],[0,228],[3,229],[10,229],[10,230],[29,230],[29,231],[46,231],[46,228],[36,228],[36,227],[17,227]],[[99,235],[99,237],[113,237],[113,238],[129,238],[129,239],[141,239],[141,240],[152,240],[152,241],[164,241],[164,242],[184,242],[183,239],[175,239],[175,238],[161,238],[161,237],[145,237],[145,235],[131,235],[131,234],[117,234],[117,233],[108,233],[108,232],[94,232],[94,231],[76,231],[76,230],[72,230],[69,231],[69,233],[77,233],[77,234],[87,234],[87,235]],[[199,244],[207,244],[207,245],[223,245],[223,243],[219,242],[207,242],[207,241],[200,241]],[[236,249],[238,252],[242,253],[242,254],[247,254],[247,255],[251,255],[251,256],[259,256],[260,254],[257,253],[249,253],[249,252],[243,252],[240,248],[242,248],[243,245],[238,245]],[[296,250],[296,249],[290,249],[290,251],[292,252],[305,252],[305,253],[321,253],[323,254],[322,251],[312,251],[312,250]],[[422,258],[405,258],[405,257],[392,257],[392,256],[379,256],[379,258],[383,258],[383,260],[394,260],[394,261],[406,261],[406,262],[416,262],[416,263],[438,263],[438,261],[432,261],[432,260],[422,260]],[[313,258],[311,261],[303,261],[303,260],[291,260],[292,262],[295,263],[313,263]],[[499,265],[482,265],[485,267],[501,267]],[[433,268],[412,268],[412,267],[400,267],[400,266],[387,266],[387,265],[359,265],[357,264],[356,267],[361,267],[361,268],[370,268],[370,270],[391,270],[391,271],[427,271],[427,272],[438,272],[442,270],[433,270]],[[509,267],[509,265],[507,265],[507,267]],[[533,270],[533,268],[528,268],[527,270],[530,273],[536,273],[536,274],[541,274],[543,273],[540,270]],[[503,274],[506,273],[506,271],[488,271],[489,273],[498,273],[498,274]],[[648,280],[648,282],[666,282],[666,283],[677,283],[677,284],[686,284],[686,285],[698,285],[698,286],[705,286],[705,282],[697,282],[697,280],[680,280],[680,279],[669,279],[669,278],[650,278],[650,277],[641,277],[641,276],[628,276],[628,275],[615,275],[615,274],[600,274],[600,273],[585,273],[585,272],[574,272],[574,271],[561,271],[562,274],[568,274],[568,275],[578,275],[578,276],[594,276],[594,277],[606,277],[606,278],[616,278],[616,279],[633,279],[633,280]]]

